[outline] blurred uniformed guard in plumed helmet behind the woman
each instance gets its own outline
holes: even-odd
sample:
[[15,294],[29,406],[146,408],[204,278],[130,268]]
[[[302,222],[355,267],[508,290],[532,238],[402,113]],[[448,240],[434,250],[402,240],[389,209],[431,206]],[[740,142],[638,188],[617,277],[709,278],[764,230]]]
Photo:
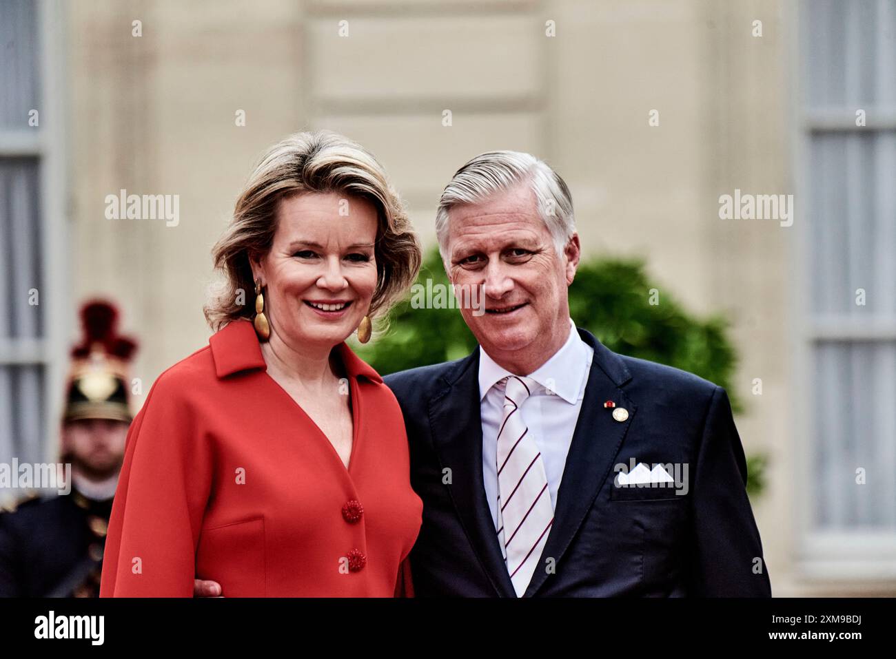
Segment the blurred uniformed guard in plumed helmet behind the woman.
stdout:
[[116,330],[112,304],[81,310],[62,418],[62,464],[71,492],[31,493],[0,512],[0,596],[95,597],[112,499],[132,415],[128,364],[136,344]]

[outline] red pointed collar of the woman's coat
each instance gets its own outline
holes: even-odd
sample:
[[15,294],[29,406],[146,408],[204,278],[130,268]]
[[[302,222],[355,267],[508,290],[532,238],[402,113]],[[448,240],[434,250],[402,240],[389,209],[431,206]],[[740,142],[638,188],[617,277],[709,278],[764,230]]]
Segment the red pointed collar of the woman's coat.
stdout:
[[[215,363],[215,374],[219,378],[226,378],[241,371],[267,370],[261,344],[250,321],[239,320],[228,323],[211,336],[209,346]],[[355,355],[345,341],[337,347],[342,357],[342,364],[350,377],[357,379],[359,376],[364,376],[369,381],[383,381],[379,373]]]

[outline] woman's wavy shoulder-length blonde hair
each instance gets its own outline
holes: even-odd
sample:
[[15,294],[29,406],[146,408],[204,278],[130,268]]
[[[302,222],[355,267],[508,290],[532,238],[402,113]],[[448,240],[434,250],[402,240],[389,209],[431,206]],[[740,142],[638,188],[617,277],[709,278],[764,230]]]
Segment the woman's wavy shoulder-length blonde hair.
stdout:
[[[278,203],[300,193],[339,193],[374,204],[377,280],[367,313],[371,321],[381,313],[384,317],[417,278],[421,261],[418,237],[401,197],[376,158],[339,133],[294,133],[272,146],[255,166],[227,230],[211,250],[215,269],[224,275],[222,286],[203,310],[211,329],[253,318],[255,284],[250,256],[261,257],[270,251]],[[246,304],[238,304],[240,298]],[[382,330],[383,322],[378,327]]]

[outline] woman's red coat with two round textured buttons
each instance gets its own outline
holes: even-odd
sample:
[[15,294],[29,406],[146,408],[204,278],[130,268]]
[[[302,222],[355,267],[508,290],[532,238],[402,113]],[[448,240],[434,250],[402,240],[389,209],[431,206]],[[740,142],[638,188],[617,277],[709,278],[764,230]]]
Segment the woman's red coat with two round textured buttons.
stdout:
[[235,321],[163,372],[127,436],[100,596],[409,594],[422,501],[401,408],[345,343],[349,469]]

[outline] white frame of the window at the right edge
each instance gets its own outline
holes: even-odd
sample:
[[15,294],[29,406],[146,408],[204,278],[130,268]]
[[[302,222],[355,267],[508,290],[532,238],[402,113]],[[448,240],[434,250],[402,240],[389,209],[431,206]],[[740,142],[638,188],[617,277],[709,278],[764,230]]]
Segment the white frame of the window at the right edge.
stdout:
[[[883,0],[880,4],[883,5]],[[814,426],[814,357],[813,348],[819,341],[844,340],[854,344],[865,341],[896,340],[896,318],[878,318],[872,321],[848,321],[843,318],[825,318],[812,312],[811,269],[811,218],[806,214],[811,188],[809,178],[809,150],[811,133],[823,129],[837,132],[896,129],[896,107],[870,107],[864,105],[867,116],[874,116],[873,127],[855,124],[858,107],[827,107],[812,109],[806,98],[806,80],[809,67],[803,39],[803,0],[789,4],[783,18],[791,35],[788,44],[789,95],[785,107],[790,108],[786,125],[790,134],[791,184],[796,193],[794,240],[792,242],[795,268],[793,285],[790,286],[791,347],[794,360],[794,409],[791,416],[791,432],[795,438],[792,453],[794,480],[791,518],[794,520],[794,559],[797,577],[814,582],[837,582],[845,579],[876,582],[892,587],[896,580],[896,531],[849,532],[820,531],[812,526],[814,508],[814,481],[811,474],[815,444]],[[878,30],[883,30],[879,21]],[[854,414],[866,410],[853,408]],[[862,584],[857,584],[862,587]]]

